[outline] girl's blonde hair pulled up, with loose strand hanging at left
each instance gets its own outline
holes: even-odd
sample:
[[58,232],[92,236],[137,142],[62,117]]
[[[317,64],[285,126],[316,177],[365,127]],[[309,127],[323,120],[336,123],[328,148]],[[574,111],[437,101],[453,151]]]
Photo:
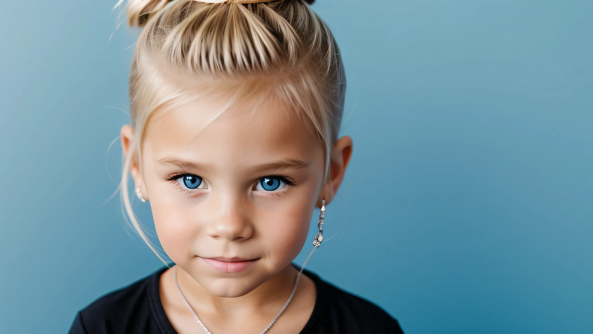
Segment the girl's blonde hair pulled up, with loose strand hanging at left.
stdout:
[[165,73],[196,81],[243,81],[244,89],[235,92],[241,94],[250,87],[260,89],[254,83],[265,79],[270,92],[304,115],[305,123],[324,144],[327,175],[342,119],[346,80],[331,31],[309,7],[313,1],[129,0],[130,26],[143,29],[129,77],[135,136],[124,156],[120,191],[129,223],[165,264],[136,219],[127,189],[130,165],[140,156],[142,134],[151,115],[184,93]]

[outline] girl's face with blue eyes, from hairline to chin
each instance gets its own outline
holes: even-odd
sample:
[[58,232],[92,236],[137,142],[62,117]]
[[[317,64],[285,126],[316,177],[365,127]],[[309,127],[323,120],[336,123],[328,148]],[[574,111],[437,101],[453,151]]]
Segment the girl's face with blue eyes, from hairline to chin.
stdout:
[[227,101],[155,113],[132,174],[171,260],[213,295],[238,297],[291,263],[337,185],[326,194],[323,144],[294,112],[242,100],[216,117]]

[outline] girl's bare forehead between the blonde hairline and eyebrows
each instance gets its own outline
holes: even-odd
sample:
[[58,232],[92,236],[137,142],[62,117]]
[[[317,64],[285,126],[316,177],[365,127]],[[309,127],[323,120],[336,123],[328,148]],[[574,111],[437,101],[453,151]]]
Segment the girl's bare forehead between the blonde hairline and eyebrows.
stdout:
[[311,160],[323,145],[302,117],[273,97],[202,97],[155,112],[143,152],[225,166]]

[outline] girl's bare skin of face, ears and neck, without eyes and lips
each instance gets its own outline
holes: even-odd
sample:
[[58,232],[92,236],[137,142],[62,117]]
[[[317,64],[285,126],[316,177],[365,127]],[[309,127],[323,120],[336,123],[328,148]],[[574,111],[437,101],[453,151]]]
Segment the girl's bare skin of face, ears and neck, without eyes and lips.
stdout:
[[[215,334],[260,333],[284,305],[297,277],[291,266],[306,240],[315,207],[333,200],[352,155],[352,139],[334,143],[323,182],[325,150],[291,108],[251,97],[227,104],[222,97],[193,99],[148,122],[130,172],[149,201],[158,238],[177,265],[161,275],[165,313],[180,334],[202,329],[181,300],[181,291]],[[121,132],[123,152],[132,127]],[[188,190],[175,178],[202,178]],[[270,175],[286,184],[258,187]],[[181,181],[183,182],[183,181]],[[313,247],[313,245],[310,245]],[[204,258],[254,260],[242,272],[213,269]],[[299,333],[315,304],[315,285],[301,276],[294,299],[268,333]]]

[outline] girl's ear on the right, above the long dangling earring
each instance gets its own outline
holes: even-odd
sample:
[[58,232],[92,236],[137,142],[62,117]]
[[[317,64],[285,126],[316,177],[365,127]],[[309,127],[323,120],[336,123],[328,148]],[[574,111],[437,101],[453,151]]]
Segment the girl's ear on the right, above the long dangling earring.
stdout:
[[325,200],[327,205],[336,196],[337,189],[344,179],[348,163],[350,163],[350,157],[352,157],[352,138],[344,136],[334,143],[333,150],[331,151],[330,171],[326,184],[321,190],[317,203],[318,207],[321,207],[321,200]]

